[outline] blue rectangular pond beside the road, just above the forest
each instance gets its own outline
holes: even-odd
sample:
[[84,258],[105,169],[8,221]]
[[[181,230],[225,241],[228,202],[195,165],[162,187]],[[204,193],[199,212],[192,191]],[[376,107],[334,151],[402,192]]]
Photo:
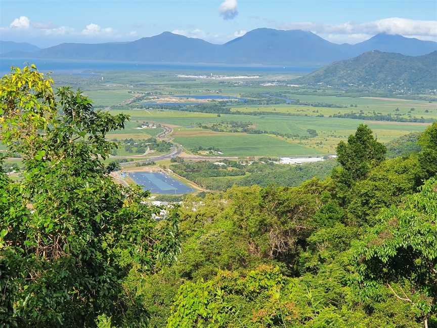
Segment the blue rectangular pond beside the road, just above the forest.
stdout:
[[163,173],[130,172],[129,177],[151,193],[177,195],[194,191],[190,186]]

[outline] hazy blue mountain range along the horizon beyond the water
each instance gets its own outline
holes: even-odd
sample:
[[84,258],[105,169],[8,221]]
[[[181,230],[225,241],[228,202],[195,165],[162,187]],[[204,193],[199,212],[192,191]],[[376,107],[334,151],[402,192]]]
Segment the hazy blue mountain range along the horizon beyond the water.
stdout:
[[23,46],[12,49],[10,52],[2,51],[5,52],[2,56],[165,63],[322,66],[371,50],[420,56],[437,50],[437,43],[380,33],[355,45],[339,45],[308,31],[258,28],[223,45],[163,32],[133,42],[63,43],[41,50],[29,50]]

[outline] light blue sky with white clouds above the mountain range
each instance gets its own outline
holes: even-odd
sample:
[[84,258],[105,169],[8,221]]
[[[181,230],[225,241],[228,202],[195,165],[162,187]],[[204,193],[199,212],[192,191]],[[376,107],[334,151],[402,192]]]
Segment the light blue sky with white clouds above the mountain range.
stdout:
[[170,31],[223,44],[259,27],[355,44],[385,32],[437,41],[437,1],[0,0],[0,40],[50,47],[126,42]]

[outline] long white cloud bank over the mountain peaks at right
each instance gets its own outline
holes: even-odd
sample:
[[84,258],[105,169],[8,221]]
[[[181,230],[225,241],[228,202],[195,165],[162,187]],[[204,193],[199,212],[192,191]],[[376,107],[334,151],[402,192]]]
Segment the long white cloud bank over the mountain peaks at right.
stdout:
[[283,29],[302,29],[322,34],[335,42],[362,41],[377,33],[401,34],[422,39],[437,38],[437,21],[412,20],[399,17],[384,18],[366,23],[319,24],[293,22],[280,25]]

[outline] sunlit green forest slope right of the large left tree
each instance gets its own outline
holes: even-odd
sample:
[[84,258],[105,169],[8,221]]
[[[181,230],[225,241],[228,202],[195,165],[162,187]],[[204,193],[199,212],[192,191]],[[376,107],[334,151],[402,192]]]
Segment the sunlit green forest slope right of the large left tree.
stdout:
[[435,180],[415,194],[423,151],[384,159],[365,126],[340,148],[334,179],[185,200],[187,238],[170,269],[183,284],[167,326],[437,323]]

